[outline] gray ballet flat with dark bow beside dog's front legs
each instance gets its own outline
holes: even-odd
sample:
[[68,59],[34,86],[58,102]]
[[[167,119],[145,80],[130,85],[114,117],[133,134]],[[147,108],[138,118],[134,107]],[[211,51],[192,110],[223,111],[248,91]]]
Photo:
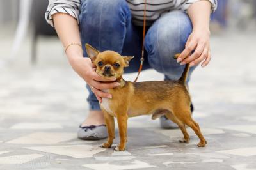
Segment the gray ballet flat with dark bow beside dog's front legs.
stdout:
[[77,137],[84,140],[99,140],[108,137],[106,125],[79,126]]

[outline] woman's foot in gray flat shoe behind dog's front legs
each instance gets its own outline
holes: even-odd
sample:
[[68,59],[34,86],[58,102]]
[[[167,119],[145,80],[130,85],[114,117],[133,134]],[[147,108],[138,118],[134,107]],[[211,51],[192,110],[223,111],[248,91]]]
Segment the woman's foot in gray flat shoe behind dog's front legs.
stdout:
[[108,137],[103,112],[90,111],[88,117],[79,126],[77,137],[85,140],[99,140]]

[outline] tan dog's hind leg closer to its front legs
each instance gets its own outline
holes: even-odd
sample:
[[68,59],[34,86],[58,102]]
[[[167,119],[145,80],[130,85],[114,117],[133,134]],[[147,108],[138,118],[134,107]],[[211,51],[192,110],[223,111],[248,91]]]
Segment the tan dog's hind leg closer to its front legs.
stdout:
[[182,134],[184,135],[184,138],[183,138],[183,139],[180,139],[179,142],[180,142],[180,143],[188,143],[189,140],[190,140],[190,138],[189,138],[189,134],[188,134],[188,132],[187,132],[187,130],[186,130],[185,124],[182,123],[182,121],[180,121],[178,118],[176,118],[171,112],[168,113],[168,114],[165,114],[165,116],[166,116],[169,120],[172,120],[174,123],[176,123],[176,124],[179,126],[179,128],[180,128]]

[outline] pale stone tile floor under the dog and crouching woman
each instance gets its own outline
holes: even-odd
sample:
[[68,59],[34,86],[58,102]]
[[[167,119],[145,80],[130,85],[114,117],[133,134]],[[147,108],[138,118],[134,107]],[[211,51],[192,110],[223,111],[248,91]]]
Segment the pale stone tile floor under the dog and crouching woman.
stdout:
[[[193,116],[207,147],[196,146],[190,129],[191,142],[179,143],[180,130],[141,116],[129,120],[124,152],[99,148],[105,140],[76,138],[88,112],[84,82],[56,39],[40,40],[38,64],[30,66],[27,40],[15,63],[0,71],[0,169],[256,169],[255,40],[250,33],[213,36],[211,65],[193,73]],[[162,78],[148,70],[140,81]]]

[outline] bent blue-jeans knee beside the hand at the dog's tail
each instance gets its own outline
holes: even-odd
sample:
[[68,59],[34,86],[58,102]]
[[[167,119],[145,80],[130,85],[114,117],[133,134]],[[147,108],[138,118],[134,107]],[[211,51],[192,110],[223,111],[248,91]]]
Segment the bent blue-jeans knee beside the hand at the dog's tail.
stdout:
[[172,77],[175,72],[174,75],[178,75],[174,79],[179,77],[183,67],[173,56],[184,50],[191,30],[191,21],[184,12],[169,12],[158,19],[148,30],[145,39],[150,66],[166,75],[172,72]]

